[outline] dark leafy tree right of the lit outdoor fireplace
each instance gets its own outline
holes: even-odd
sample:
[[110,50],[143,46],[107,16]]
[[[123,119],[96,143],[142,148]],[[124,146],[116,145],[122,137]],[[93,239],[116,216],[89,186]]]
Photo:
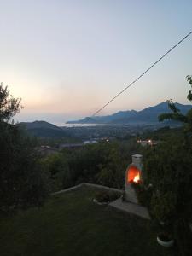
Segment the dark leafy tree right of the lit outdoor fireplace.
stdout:
[[[192,87],[192,77],[187,76],[187,80]],[[191,90],[187,98],[192,102]],[[172,226],[176,238],[179,237],[177,242],[182,255],[191,255],[189,222],[192,221],[192,109],[184,115],[172,100],[167,102],[172,113],[162,113],[160,121],[181,121],[184,130],[179,136],[172,132],[172,137],[166,137],[156,148],[148,148],[143,169],[147,174],[146,182],[154,186],[151,212],[156,219]]]

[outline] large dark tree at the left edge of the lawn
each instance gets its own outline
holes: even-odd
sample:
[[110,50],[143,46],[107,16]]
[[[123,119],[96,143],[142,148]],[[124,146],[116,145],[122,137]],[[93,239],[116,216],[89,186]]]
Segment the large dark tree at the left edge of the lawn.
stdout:
[[10,124],[20,111],[20,99],[0,85],[0,212],[36,206],[47,195],[44,172],[30,137]]

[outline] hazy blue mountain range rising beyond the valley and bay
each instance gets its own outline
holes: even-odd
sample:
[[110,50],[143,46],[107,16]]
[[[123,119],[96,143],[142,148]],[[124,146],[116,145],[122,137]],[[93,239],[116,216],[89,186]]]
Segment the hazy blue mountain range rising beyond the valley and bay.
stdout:
[[[191,105],[176,103],[181,113],[187,113]],[[67,121],[67,124],[103,124],[103,125],[134,125],[159,123],[158,116],[161,113],[170,113],[167,102],[162,102],[154,107],[144,108],[141,111],[119,111],[107,116],[86,117],[77,121]]]

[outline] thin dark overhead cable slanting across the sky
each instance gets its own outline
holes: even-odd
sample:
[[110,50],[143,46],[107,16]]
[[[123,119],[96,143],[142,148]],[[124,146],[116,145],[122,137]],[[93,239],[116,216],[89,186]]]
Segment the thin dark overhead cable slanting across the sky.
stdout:
[[96,113],[93,113],[91,115],[91,117],[96,116],[97,113],[101,112],[103,108],[106,108],[108,106],[108,104],[110,104],[111,102],[113,102],[113,100],[115,100],[118,96],[120,96],[122,93],[124,93],[125,90],[127,90],[128,88],[131,87],[131,85],[135,84],[139,79],[141,79],[143,77],[144,74],[148,73],[148,71],[154,67],[158,62],[160,62],[163,58],[166,57],[166,55],[168,55],[173,49],[175,49],[177,47],[178,44],[181,44],[186,38],[189,37],[189,35],[192,34],[192,31],[189,32],[184,38],[182,38],[177,44],[175,44],[174,46],[172,46],[171,49],[169,49],[164,55],[162,55],[160,57],[160,59],[158,59],[157,61],[154,62],[154,64],[152,64],[150,67],[148,67],[148,69],[146,69],[140,76],[137,77],[137,79],[133,80],[131,82],[131,84],[128,84],[123,90],[121,90],[116,96],[113,96],[113,98],[107,102],[104,106],[102,106],[102,108],[99,108]]

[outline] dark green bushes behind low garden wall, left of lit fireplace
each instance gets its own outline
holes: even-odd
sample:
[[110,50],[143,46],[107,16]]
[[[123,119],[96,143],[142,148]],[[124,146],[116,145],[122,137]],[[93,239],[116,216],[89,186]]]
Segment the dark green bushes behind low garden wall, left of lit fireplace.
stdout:
[[99,183],[123,188],[125,168],[138,150],[133,140],[64,149],[41,160],[53,191],[79,183]]

